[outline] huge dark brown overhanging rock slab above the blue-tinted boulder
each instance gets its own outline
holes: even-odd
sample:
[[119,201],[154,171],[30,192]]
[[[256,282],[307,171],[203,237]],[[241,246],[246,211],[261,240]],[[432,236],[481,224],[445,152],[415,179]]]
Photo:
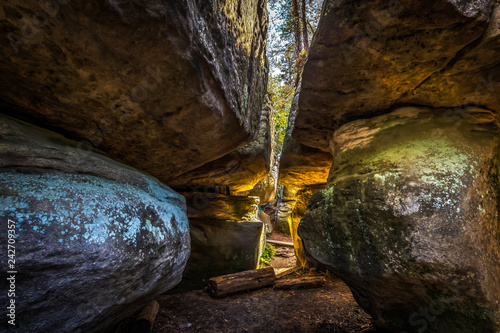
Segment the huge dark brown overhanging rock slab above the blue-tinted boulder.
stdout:
[[164,183],[257,134],[264,0],[10,1],[0,22],[3,112]]

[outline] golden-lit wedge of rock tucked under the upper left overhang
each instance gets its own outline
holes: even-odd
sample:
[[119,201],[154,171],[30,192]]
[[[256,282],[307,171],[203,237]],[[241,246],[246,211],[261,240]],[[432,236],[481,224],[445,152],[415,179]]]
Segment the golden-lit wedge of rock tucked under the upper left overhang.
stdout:
[[224,186],[231,194],[248,194],[256,184],[266,178],[266,174],[271,172],[273,142],[272,110],[270,101],[266,98],[260,116],[258,135],[253,142],[195,170],[169,179],[166,183],[174,187]]

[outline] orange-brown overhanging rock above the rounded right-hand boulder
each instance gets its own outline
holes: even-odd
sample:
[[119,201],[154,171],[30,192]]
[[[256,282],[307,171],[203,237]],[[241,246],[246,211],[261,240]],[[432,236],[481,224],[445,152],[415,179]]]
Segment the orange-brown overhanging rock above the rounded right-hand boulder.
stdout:
[[293,137],[327,151],[339,126],[407,103],[497,110],[494,6],[498,1],[325,1]]

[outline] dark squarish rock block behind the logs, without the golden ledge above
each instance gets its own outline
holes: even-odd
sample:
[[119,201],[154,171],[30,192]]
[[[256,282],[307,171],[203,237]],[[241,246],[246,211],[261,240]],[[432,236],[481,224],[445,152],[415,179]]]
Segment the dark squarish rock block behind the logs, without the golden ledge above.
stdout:
[[173,292],[202,289],[208,279],[258,267],[265,246],[262,222],[189,219],[191,256]]

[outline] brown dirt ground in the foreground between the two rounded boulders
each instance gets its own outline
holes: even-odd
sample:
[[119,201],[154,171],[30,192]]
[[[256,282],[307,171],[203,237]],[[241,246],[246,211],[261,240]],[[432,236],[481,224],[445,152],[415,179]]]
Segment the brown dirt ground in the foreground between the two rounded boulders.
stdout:
[[322,288],[272,287],[214,299],[203,291],[162,295],[154,329],[171,332],[374,332],[349,288],[328,277]]

